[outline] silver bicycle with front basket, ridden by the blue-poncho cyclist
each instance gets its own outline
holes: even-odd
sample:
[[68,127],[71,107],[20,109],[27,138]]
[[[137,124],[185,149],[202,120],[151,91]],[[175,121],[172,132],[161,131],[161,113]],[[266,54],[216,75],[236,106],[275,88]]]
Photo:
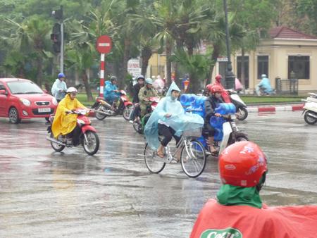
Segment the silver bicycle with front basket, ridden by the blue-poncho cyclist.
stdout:
[[144,161],[151,173],[160,173],[167,163],[176,161],[175,155],[180,151],[180,164],[188,177],[198,177],[206,166],[206,152],[204,146],[196,138],[201,136],[201,128],[183,132],[176,150],[172,153],[170,145],[166,146],[165,156],[161,158],[156,150],[148,144],[144,148]]

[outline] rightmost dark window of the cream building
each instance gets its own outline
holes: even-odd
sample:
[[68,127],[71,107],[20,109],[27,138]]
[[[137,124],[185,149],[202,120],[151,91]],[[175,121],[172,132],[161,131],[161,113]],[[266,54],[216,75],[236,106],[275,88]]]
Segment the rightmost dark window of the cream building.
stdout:
[[297,79],[309,80],[309,56],[288,56],[289,79],[292,72]]

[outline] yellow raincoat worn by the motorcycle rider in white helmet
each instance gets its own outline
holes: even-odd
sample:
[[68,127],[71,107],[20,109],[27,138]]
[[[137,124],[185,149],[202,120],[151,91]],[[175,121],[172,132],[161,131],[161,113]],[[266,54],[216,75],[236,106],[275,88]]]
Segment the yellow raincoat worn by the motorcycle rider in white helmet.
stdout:
[[57,138],[60,134],[68,134],[72,132],[77,123],[76,114],[66,114],[66,111],[70,111],[77,108],[86,108],[80,104],[77,99],[70,99],[69,94],[61,100],[57,106],[53,124],[51,125],[51,131],[54,137]]

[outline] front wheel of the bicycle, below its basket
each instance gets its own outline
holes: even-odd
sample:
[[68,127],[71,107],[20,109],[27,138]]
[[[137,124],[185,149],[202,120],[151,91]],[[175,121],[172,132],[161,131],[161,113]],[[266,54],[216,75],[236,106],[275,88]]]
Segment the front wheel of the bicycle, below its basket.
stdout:
[[187,146],[182,146],[180,154],[182,170],[188,177],[201,175],[206,166],[206,152],[204,146],[197,139],[192,139]]

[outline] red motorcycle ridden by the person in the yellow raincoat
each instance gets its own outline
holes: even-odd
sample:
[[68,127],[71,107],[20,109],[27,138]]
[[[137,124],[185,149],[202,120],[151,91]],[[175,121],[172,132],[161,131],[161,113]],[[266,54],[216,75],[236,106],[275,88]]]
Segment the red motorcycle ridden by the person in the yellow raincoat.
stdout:
[[[51,132],[51,125],[47,127],[47,132],[49,136],[46,137],[49,142],[51,142],[51,147],[54,151],[61,152],[65,147],[75,147],[82,144],[85,152],[92,156],[97,153],[99,149],[99,137],[97,130],[92,127],[90,119],[85,115],[91,110],[87,109],[76,109],[72,111],[72,114],[77,116],[77,125],[80,127],[79,143],[73,144],[73,138],[67,135],[60,135],[58,138],[54,138],[53,132]],[[54,115],[50,115],[49,122],[52,124],[54,120]]]

